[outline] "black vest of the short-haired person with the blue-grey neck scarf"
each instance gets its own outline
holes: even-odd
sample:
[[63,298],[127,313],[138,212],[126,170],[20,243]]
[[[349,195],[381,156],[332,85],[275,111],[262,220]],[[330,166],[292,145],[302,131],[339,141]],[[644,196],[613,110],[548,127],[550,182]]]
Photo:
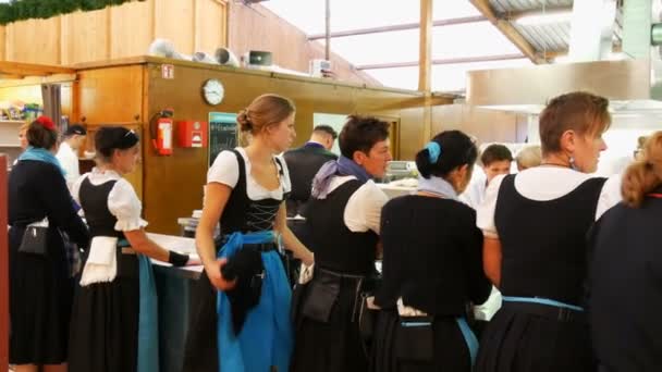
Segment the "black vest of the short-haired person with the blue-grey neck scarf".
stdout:
[[312,234],[317,266],[354,275],[368,275],[375,271],[378,235],[372,231],[353,233],[344,220],[347,201],[361,185],[352,179],[326,199],[310,199],[306,227]]

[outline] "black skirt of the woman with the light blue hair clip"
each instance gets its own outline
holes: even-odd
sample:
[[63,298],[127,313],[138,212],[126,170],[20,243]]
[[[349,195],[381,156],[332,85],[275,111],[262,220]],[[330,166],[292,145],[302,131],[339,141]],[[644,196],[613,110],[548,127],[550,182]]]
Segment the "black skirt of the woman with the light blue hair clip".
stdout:
[[437,318],[431,328],[432,345],[415,345],[421,338],[412,339],[418,350],[431,347],[431,358],[427,361],[400,358],[397,345],[406,337],[400,327],[400,317],[395,311],[380,311],[375,327],[372,344],[373,372],[470,372],[471,358],[457,322],[453,318]]

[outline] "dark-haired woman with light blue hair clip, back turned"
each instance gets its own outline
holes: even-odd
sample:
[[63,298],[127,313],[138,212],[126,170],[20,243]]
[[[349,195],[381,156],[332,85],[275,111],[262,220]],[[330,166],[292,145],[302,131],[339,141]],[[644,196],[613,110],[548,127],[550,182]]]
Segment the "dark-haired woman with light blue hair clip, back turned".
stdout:
[[476,157],[464,133],[437,135],[416,156],[417,193],[382,209],[376,372],[471,370],[478,342],[465,320],[467,303],[482,303],[492,287],[476,212],[457,200]]

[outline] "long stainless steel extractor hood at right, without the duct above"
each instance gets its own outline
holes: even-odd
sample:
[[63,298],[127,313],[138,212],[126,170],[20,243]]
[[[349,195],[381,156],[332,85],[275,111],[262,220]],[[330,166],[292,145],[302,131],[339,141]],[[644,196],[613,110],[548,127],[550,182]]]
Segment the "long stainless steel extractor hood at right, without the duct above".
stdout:
[[471,71],[467,102],[490,109],[538,113],[549,99],[575,90],[609,98],[616,112],[662,112],[659,58]]

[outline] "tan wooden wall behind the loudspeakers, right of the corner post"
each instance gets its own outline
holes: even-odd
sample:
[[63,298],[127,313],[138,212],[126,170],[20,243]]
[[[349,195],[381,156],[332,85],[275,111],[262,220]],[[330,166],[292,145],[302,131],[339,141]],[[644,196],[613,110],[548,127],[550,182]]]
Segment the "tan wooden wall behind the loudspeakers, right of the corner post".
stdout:
[[[308,41],[304,32],[267,8],[259,4],[248,8],[235,2],[231,2],[229,5],[229,46],[237,57],[248,50],[271,51],[273,63],[284,69],[305,73],[308,72],[309,60],[324,58],[324,48],[321,44]],[[295,2],[292,5],[296,7]],[[381,86],[377,79],[355,70],[340,55],[332,53],[331,61],[338,79]]]

